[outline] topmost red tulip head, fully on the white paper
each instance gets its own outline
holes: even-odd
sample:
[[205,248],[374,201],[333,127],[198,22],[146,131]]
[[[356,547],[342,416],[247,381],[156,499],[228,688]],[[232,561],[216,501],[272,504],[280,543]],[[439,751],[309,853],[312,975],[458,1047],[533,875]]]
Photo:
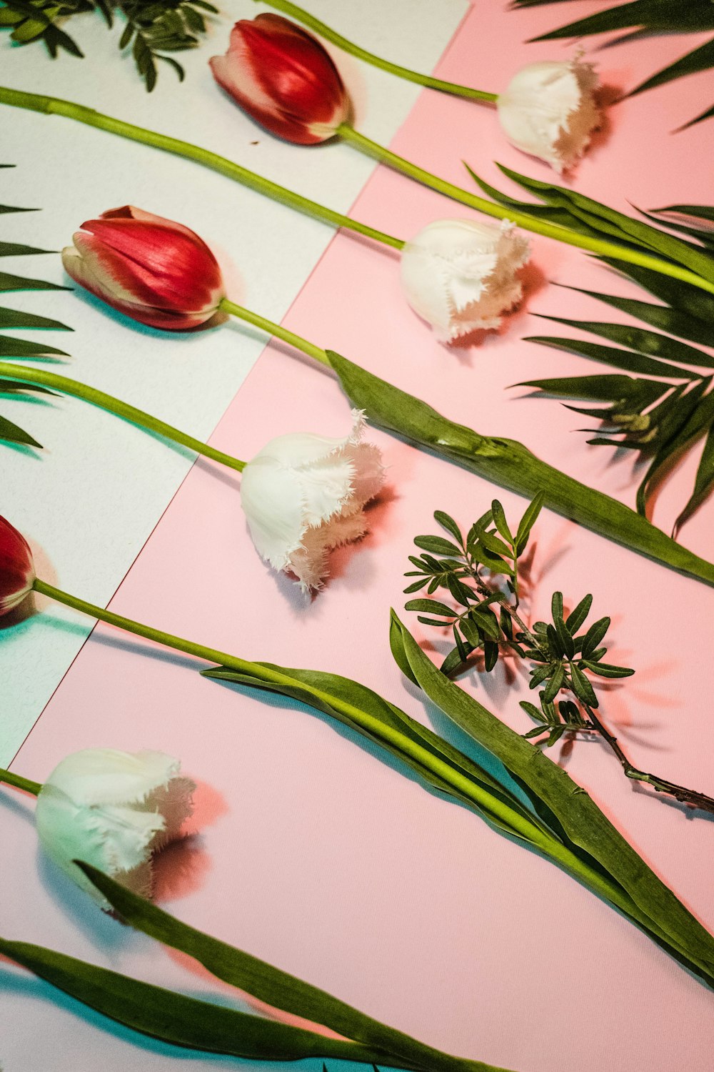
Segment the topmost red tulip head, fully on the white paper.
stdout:
[[256,122],[298,145],[331,138],[351,105],[320,42],[282,15],[242,18],[213,77]]

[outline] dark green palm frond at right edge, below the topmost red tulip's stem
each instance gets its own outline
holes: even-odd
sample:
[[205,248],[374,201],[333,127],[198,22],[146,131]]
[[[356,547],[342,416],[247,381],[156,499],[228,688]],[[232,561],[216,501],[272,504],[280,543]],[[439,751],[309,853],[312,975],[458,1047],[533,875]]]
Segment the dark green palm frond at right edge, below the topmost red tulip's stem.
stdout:
[[[710,220],[714,214],[711,207],[674,205],[659,209],[658,214],[663,214],[669,225],[689,235],[701,236],[702,244],[698,249],[709,250],[713,234]],[[674,222],[670,219],[672,215],[677,218]],[[686,224],[681,222],[683,218],[687,220]],[[672,280],[662,286],[652,278],[655,272],[641,268],[631,271],[632,266],[622,262],[612,264],[666,303],[651,304],[588,291],[581,293],[663,330],[545,317],[619,345],[604,346],[583,339],[558,336],[531,336],[528,341],[592,358],[627,374],[530,379],[518,386],[535,387],[545,394],[560,398],[601,403],[596,407],[569,408],[603,421],[597,435],[589,443],[634,449],[650,459],[637,492],[637,508],[642,515],[658,479],[671,462],[704,440],[695,487],[674,523],[677,533],[714,486],[714,377],[711,373],[714,357],[682,341],[687,339],[711,345],[714,340],[714,302],[703,292],[701,299],[695,299],[692,294],[694,288],[684,283]],[[669,333],[664,334],[663,331]]]

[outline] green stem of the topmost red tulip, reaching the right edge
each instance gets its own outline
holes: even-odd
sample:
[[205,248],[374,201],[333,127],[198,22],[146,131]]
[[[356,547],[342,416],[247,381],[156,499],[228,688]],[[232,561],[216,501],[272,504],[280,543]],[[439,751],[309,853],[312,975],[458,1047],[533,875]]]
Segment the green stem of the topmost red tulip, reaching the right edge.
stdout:
[[425,187],[429,187],[431,190],[436,190],[440,194],[459,202],[461,205],[468,205],[469,208],[474,208],[478,212],[485,212],[486,215],[496,217],[498,220],[511,220],[525,230],[532,230],[536,235],[545,235],[546,238],[555,238],[559,242],[565,242],[566,245],[577,245],[581,250],[590,250],[598,257],[613,257],[618,260],[627,260],[631,264],[640,265],[642,268],[650,268],[663,276],[671,276],[673,279],[680,279],[685,283],[690,283],[693,286],[698,286],[702,291],[709,291],[711,294],[714,294],[714,283],[710,283],[709,280],[702,279],[701,276],[697,276],[696,272],[689,271],[687,268],[682,268],[680,265],[663,260],[659,257],[650,256],[650,254],[641,253],[639,250],[631,250],[625,245],[605,241],[601,238],[591,238],[589,235],[579,234],[569,227],[561,227],[558,224],[548,223],[546,220],[532,217],[528,212],[503,208],[495,202],[486,200],[485,197],[480,197],[468,190],[462,190],[461,187],[454,185],[453,182],[447,182],[445,179],[440,179],[437,175],[432,175],[423,167],[419,167],[417,164],[412,164],[409,160],[405,160],[404,157],[398,157],[395,152],[391,152],[384,148],[384,146],[370,140],[364,134],[355,131],[349,123],[340,123],[337,128],[337,134],[345,142],[349,142],[350,145],[353,145],[361,152],[366,153],[367,157],[373,157],[375,160],[388,164],[390,167],[395,168],[395,170],[401,172],[402,175],[408,175],[410,179],[415,179]]

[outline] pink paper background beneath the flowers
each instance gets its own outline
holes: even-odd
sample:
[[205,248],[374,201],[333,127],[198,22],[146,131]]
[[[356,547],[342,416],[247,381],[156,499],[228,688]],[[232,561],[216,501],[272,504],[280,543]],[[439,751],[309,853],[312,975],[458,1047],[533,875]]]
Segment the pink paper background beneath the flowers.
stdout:
[[[481,4],[438,73],[499,89],[519,64],[571,51],[558,42],[519,42],[598,6],[513,13],[500,2]],[[695,41],[654,38],[601,50],[595,59],[603,80],[622,88]],[[612,108],[608,129],[577,170],[576,188],[623,209],[628,202],[643,208],[711,203],[711,122],[669,133],[701,110],[707,93],[711,78],[697,76]],[[393,148],[464,184],[462,158],[496,184],[506,182],[492,159],[550,177],[503,144],[488,109],[428,91]],[[319,166],[320,152],[330,149],[299,151],[314,151]],[[380,168],[353,214],[408,237],[435,217],[468,211]],[[286,324],[428,398],[450,417],[519,438],[632,504],[629,458],[616,461],[610,451],[588,447],[575,431],[577,415],[557,402],[506,388],[596,368],[522,342],[528,334],[567,333],[534,313],[617,318],[613,310],[547,280],[641,292],[578,251],[545,239],[533,247],[523,308],[503,332],[469,349],[439,345],[405,306],[391,251],[341,234]],[[250,280],[248,266],[241,268]],[[259,281],[250,280],[241,299],[259,307]],[[243,328],[221,330],[238,336]],[[247,458],[275,434],[301,429],[337,435],[347,421],[332,379],[271,345],[212,442]],[[332,578],[313,601],[257,560],[241,512],[240,478],[199,461],[111,608],[248,658],[354,676],[469,750],[468,740],[405,684],[386,642],[388,611],[404,606],[407,555],[415,534],[434,531],[434,509],[468,524],[493,489],[393,437],[377,431],[370,437],[384,451],[388,491],[370,511],[371,534],[333,557]],[[147,438],[147,464],[164,449]],[[663,527],[684,502],[695,467],[696,458],[688,459],[658,496],[655,520]],[[508,516],[518,518],[523,502],[498,494]],[[710,559],[713,509],[710,502],[682,536]],[[553,589],[569,606],[590,591],[594,612],[612,616],[613,659],[637,668],[632,681],[601,690],[603,713],[633,761],[714,793],[712,592],[551,513],[542,516],[535,544],[533,616],[547,612]],[[51,548],[43,550],[51,561]],[[434,630],[405,616],[426,643],[443,647]],[[465,687],[508,725],[529,728],[518,708],[528,695],[522,675],[506,687],[501,670],[473,674]],[[199,834],[167,854],[158,876],[161,903],[192,924],[464,1056],[521,1072],[711,1069],[712,996],[697,980],[551,864],[426,791],[326,718],[280,698],[202,680],[193,660],[97,627],[13,768],[42,780],[66,753],[101,745],[164,749],[182,757],[200,783]],[[634,788],[597,743],[561,744],[551,757],[713,927],[710,820]],[[233,992],[185,958],[88,905],[40,858],[31,814],[30,798],[2,791],[4,935],[186,993],[234,1000]],[[254,1067],[185,1054],[110,1027],[14,967],[3,967],[0,979],[6,988],[0,1002],[5,1072],[74,1070],[97,1060],[107,1072],[164,1069],[179,1060],[186,1069]],[[305,1062],[309,1072],[320,1067]]]

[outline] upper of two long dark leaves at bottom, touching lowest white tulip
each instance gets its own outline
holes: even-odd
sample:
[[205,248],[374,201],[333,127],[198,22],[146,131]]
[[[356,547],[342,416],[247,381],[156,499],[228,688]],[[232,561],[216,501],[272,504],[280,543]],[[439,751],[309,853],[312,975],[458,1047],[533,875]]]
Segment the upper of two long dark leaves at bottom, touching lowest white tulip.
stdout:
[[[139,897],[95,867],[76,861],[91,882],[104,894],[109,904],[126,923],[157,941],[195,957],[217,979],[236,986],[253,997],[283,1012],[293,1013],[314,1024],[331,1028],[353,1042],[382,1051],[395,1058],[424,1069],[446,1069],[446,1055],[415,1039],[386,1027],[351,1006],[339,1001],[324,991],[297,979],[279,968],[274,968],[249,953],[212,938],[195,927],[182,923],[168,912]],[[382,1058],[383,1062],[384,1058]],[[468,1067],[472,1072],[489,1066],[478,1061],[453,1059],[454,1069]]]

